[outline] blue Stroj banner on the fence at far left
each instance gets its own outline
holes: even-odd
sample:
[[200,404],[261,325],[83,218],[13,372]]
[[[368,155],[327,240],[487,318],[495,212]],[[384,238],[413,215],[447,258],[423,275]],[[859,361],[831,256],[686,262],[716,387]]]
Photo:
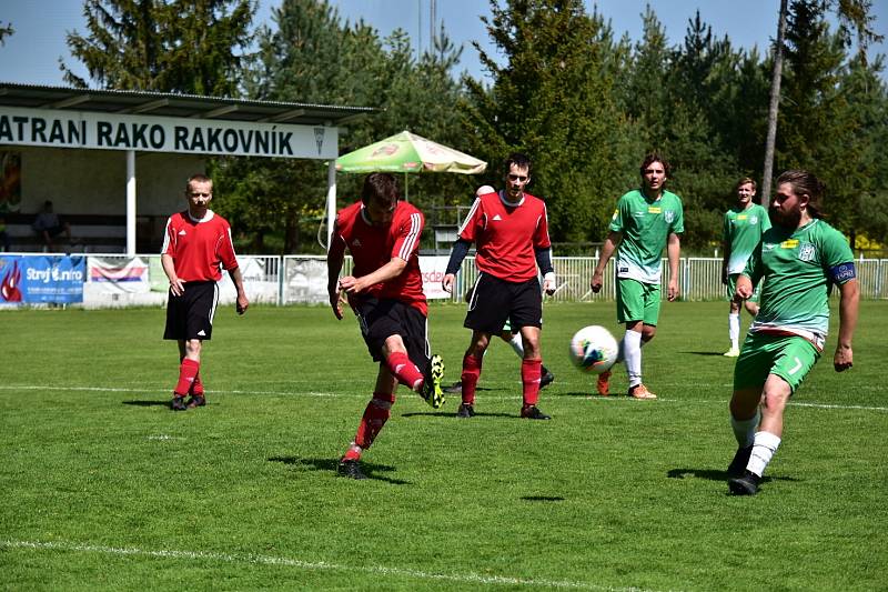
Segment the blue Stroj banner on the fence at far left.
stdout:
[[87,258],[69,255],[0,257],[0,303],[71,304],[83,302]]

